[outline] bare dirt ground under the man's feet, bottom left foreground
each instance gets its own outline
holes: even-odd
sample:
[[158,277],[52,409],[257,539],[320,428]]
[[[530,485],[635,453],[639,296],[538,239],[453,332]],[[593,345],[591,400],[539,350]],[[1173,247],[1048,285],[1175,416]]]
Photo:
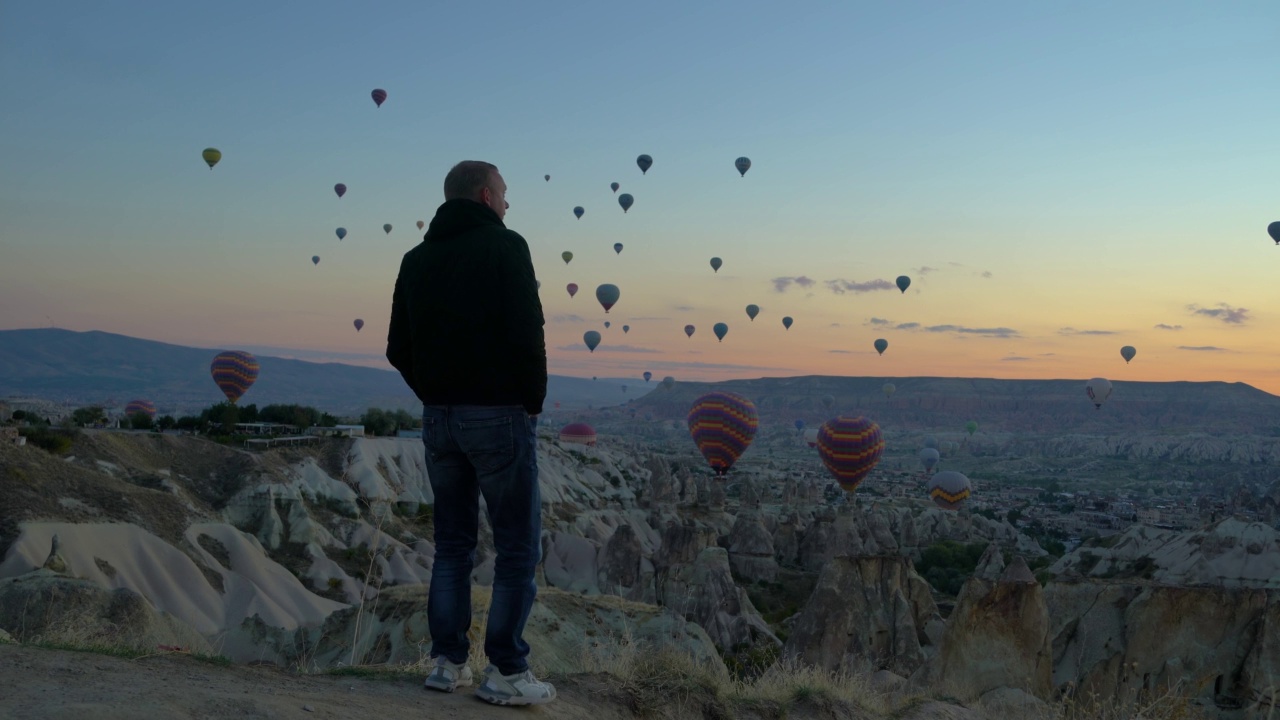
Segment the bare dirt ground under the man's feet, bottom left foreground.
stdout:
[[0,644],[0,717],[5,720],[634,717],[625,701],[611,697],[590,676],[561,680],[559,697],[538,707],[495,707],[477,700],[474,689],[439,693],[424,689],[421,679],[298,675],[266,666],[214,665],[177,653],[125,660]]

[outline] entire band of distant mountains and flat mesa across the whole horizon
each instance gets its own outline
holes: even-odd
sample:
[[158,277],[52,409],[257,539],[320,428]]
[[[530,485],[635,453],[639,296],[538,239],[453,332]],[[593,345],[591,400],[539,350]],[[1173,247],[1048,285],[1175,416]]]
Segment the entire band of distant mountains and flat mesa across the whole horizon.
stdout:
[[[228,347],[227,350],[236,350]],[[218,350],[183,347],[105,332],[0,331],[0,397],[41,397],[73,405],[123,407],[134,398],[163,414],[183,414],[223,400],[209,377]],[[421,405],[398,373],[340,363],[257,356],[261,374],[242,402],[301,404],[339,415],[369,407]],[[896,387],[886,397],[884,383]],[[622,391],[620,386],[626,386]],[[626,420],[616,409],[634,401],[639,419],[684,420],[690,404],[709,389],[739,392],[756,405],[762,423],[810,427],[837,414],[864,414],[882,425],[964,433],[1207,433],[1280,436],[1280,397],[1244,383],[1115,382],[1101,410],[1085,397],[1084,379],[998,380],[984,378],[846,378],[808,375],[719,383],[677,382],[663,389],[639,378],[552,375],[549,420],[581,416]],[[828,410],[822,402],[835,397]],[[559,402],[559,411],[554,404]],[[596,410],[588,410],[588,406]],[[613,407],[613,410],[611,410]]]

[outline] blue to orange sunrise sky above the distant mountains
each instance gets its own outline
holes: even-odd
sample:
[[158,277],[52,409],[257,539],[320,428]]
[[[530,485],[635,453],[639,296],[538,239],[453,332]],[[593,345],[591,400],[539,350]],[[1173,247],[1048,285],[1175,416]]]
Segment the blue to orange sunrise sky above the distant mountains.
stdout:
[[0,329],[389,368],[415,223],[481,159],[554,374],[1280,393],[1277,26],[1271,0],[6,3]]

